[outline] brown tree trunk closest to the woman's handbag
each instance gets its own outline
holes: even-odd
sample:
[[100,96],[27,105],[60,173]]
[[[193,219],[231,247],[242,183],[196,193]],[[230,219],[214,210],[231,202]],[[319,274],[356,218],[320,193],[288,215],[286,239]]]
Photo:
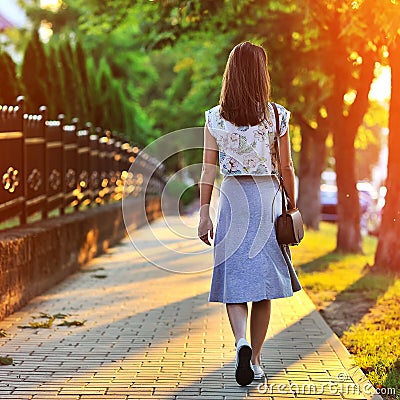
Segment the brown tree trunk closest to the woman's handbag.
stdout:
[[302,127],[298,208],[309,229],[319,229],[321,219],[320,184],[325,166],[326,136]]

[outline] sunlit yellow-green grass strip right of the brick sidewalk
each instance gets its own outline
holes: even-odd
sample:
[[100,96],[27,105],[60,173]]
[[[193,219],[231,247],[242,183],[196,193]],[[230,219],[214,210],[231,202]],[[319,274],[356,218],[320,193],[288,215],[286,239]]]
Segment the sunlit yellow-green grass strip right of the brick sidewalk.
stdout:
[[[386,399],[400,399],[400,276],[371,265],[377,240],[364,254],[341,254],[336,225],[321,223],[292,248],[299,279],[317,309]],[[386,395],[385,395],[386,393]]]

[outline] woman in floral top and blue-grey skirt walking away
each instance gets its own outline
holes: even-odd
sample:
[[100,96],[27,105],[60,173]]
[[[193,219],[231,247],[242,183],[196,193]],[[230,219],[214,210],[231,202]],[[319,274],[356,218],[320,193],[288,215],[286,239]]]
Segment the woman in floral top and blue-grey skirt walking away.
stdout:
[[[290,207],[296,207],[288,132],[290,112],[270,103],[269,93],[264,49],[243,42],[229,55],[219,105],[205,114],[198,236],[208,245],[214,239],[208,300],[226,304],[235,336],[235,377],[242,386],[265,376],[261,348],[271,299],[289,297],[301,289],[288,248],[279,246],[274,228],[282,210],[274,151],[275,112],[279,116],[277,136],[284,189]],[[214,235],[209,207],[217,159],[223,180]],[[248,302],[252,303],[251,344],[246,339]]]

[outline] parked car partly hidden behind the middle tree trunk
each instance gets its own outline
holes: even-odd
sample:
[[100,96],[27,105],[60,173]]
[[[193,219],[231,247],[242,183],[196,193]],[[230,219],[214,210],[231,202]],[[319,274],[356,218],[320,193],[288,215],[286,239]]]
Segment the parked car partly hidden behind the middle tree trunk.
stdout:
[[[376,235],[380,225],[381,207],[378,205],[378,193],[369,182],[358,182],[360,202],[360,227],[363,234]],[[337,186],[321,185],[321,220],[337,221]]]

